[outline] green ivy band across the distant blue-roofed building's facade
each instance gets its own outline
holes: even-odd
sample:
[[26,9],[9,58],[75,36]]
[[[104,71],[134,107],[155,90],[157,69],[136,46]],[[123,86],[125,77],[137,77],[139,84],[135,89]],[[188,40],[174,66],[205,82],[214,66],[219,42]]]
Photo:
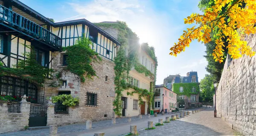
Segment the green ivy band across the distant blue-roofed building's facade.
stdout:
[[[183,87],[183,92],[180,92],[180,87]],[[195,87],[195,92],[192,92],[192,87]],[[172,90],[177,95],[186,95],[187,97],[200,92],[199,83],[173,83]]]

